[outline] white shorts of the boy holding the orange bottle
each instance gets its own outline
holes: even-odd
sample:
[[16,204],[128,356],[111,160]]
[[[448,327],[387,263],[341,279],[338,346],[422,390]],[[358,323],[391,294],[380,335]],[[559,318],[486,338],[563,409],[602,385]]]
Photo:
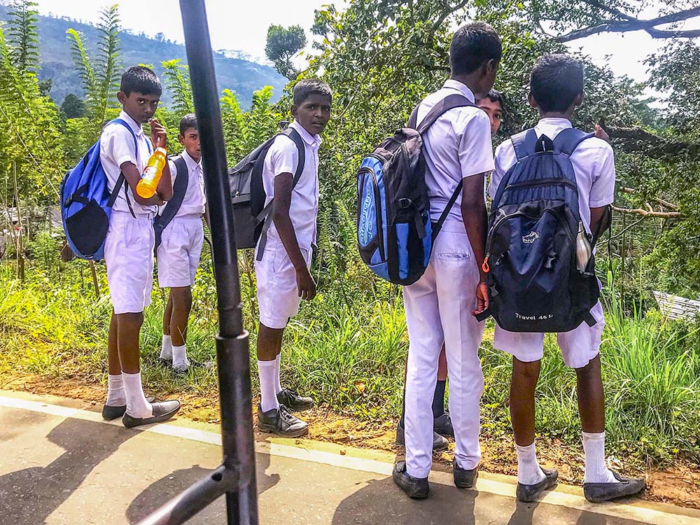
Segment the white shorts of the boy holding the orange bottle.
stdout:
[[151,214],[112,211],[104,262],[115,314],[138,314],[151,304],[154,244]]

